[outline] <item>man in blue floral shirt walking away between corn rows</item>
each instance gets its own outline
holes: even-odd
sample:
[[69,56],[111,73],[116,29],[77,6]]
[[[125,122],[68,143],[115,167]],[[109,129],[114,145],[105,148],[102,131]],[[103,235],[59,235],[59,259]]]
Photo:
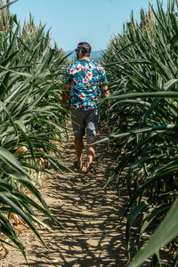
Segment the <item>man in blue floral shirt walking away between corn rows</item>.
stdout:
[[77,61],[69,66],[66,76],[66,87],[62,102],[66,107],[69,99],[72,127],[75,136],[77,161],[75,167],[81,170],[83,136],[87,134],[87,166],[86,173],[94,173],[93,156],[96,132],[100,117],[98,102],[101,94],[109,96],[105,70],[90,60],[91,46],[82,42],[77,45]]

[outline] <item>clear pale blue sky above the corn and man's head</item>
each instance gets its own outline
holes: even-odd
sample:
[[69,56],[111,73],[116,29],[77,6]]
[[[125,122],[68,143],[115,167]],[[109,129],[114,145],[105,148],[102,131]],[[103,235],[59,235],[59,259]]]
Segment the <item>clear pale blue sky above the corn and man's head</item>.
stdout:
[[[157,7],[157,0],[150,0]],[[166,6],[167,1],[164,0]],[[20,24],[31,11],[36,25],[40,20],[51,29],[51,38],[64,51],[73,50],[85,41],[93,51],[103,50],[113,34],[121,33],[132,9],[139,20],[141,7],[148,10],[149,0],[19,0],[12,4]]]

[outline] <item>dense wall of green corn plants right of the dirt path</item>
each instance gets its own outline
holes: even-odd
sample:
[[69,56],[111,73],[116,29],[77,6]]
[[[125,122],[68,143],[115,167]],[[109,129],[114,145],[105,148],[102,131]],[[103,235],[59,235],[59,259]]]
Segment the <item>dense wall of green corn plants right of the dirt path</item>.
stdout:
[[[143,214],[143,219],[138,242],[145,232],[150,232],[151,223],[161,222],[165,217],[160,227],[162,239],[158,239],[156,231],[157,238],[153,235],[150,246],[145,248],[147,254],[143,249],[140,262],[129,266],[139,266],[155,251],[151,264],[160,264],[158,249],[178,235],[178,228],[175,229],[178,220],[175,213],[178,196],[177,5],[177,1],[168,1],[166,12],[159,2],[157,11],[150,5],[149,12],[141,10],[141,22],[134,21],[132,13],[123,33],[111,39],[102,57],[111,95],[109,109],[104,111],[109,118],[110,135],[100,142],[118,139],[118,163],[108,182],[116,181],[119,188],[127,185],[130,196],[125,231],[128,252],[132,226],[139,214]],[[123,170],[124,181],[119,178]],[[169,227],[172,235],[168,234]],[[173,262],[177,263],[176,253]]]

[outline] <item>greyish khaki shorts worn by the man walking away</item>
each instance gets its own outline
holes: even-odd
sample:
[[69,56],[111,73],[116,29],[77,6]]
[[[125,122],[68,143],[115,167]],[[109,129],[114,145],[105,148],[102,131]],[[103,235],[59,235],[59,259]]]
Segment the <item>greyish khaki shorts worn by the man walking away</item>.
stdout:
[[89,137],[96,136],[100,119],[100,109],[77,110],[71,109],[72,127],[75,137],[82,137],[86,134]]

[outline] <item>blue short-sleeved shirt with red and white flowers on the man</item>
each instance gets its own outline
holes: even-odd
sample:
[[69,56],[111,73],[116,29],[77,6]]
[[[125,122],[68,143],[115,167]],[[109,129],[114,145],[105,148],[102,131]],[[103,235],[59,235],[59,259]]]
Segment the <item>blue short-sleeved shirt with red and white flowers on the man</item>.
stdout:
[[107,84],[105,69],[94,61],[78,60],[67,69],[66,84],[71,85],[70,106],[78,110],[98,108],[100,85]]

